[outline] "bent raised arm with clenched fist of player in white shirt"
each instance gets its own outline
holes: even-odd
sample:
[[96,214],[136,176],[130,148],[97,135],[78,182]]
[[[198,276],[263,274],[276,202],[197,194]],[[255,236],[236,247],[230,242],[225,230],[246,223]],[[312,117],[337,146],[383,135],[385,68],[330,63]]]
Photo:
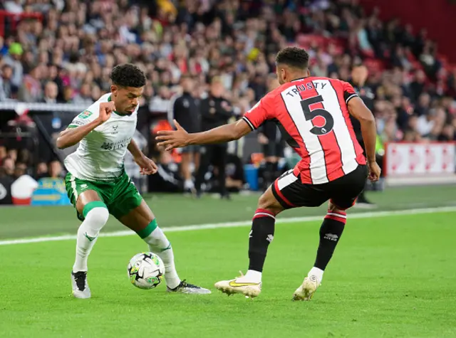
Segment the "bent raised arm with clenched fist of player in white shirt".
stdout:
[[108,121],[111,113],[115,110],[114,102],[102,102],[100,103],[100,115],[96,120],[86,123],[86,125],[81,125],[76,128],[70,128],[63,130],[58,135],[56,145],[58,149],[65,149],[72,147],[75,144],[81,142],[81,139],[86,137],[89,132],[94,130],[99,125],[102,125],[104,122]]

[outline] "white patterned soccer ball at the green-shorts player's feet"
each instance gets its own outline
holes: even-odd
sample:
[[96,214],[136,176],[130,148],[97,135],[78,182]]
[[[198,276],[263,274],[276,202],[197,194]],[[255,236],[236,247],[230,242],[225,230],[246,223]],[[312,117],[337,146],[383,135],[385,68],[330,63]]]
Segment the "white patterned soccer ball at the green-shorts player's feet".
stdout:
[[165,275],[165,265],[155,253],[138,253],[128,263],[128,278],[140,289],[153,289]]

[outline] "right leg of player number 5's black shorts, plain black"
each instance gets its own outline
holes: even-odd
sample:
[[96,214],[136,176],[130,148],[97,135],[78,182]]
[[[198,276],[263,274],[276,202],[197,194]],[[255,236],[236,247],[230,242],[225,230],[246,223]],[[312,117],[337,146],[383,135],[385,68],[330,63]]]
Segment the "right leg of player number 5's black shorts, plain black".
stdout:
[[338,210],[351,208],[363,191],[367,177],[367,166],[359,165],[351,173],[330,182],[331,201],[329,208],[337,208]]

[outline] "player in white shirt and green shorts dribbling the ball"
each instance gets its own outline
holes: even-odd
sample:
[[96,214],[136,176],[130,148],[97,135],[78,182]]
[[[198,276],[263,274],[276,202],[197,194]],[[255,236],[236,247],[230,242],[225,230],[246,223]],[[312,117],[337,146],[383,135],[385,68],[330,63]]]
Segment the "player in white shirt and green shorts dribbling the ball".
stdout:
[[133,141],[145,74],[137,66],[125,63],[113,68],[110,79],[111,93],[75,117],[57,139],[60,149],[79,143],[76,152],[68,155],[64,162],[68,170],[65,179],[68,197],[83,221],[78,229],[76,261],[71,271],[73,295],[90,298],[88,255],[110,214],[138,233],[149,250],[162,258],[168,292],[208,294],[209,290],[180,280],[170,241],[125,174],[123,161],[127,150],[142,174],[157,171],[156,164],[142,154]]

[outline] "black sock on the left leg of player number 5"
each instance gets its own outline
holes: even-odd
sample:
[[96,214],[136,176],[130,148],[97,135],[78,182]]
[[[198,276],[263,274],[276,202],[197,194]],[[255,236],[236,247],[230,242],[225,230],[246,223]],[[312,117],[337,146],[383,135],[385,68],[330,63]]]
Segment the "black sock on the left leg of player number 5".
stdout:
[[257,209],[249,234],[249,270],[263,271],[269,243],[274,238],[276,218],[271,211]]

